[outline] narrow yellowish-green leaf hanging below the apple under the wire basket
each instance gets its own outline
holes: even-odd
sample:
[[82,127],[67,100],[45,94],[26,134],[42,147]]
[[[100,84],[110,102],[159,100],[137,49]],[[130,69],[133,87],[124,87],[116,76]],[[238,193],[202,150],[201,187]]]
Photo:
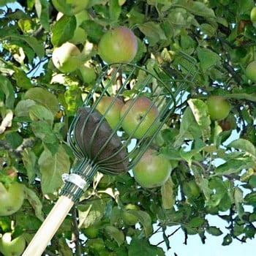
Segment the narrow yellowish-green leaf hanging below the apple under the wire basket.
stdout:
[[161,187],[162,207],[164,209],[173,208],[173,205],[176,202],[175,196],[173,195],[173,186],[172,179],[168,178],[165,184]]

